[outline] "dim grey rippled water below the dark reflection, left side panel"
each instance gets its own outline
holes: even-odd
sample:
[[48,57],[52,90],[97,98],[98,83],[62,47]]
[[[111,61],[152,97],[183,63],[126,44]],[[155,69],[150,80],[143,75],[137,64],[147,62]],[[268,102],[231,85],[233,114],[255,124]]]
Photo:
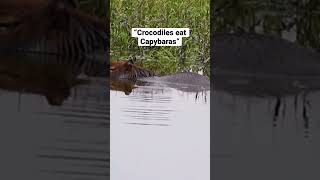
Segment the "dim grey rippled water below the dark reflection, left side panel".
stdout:
[[[105,179],[109,176],[105,80],[75,87],[63,105],[39,95],[0,91],[0,177]],[[16,173],[17,172],[17,173]]]

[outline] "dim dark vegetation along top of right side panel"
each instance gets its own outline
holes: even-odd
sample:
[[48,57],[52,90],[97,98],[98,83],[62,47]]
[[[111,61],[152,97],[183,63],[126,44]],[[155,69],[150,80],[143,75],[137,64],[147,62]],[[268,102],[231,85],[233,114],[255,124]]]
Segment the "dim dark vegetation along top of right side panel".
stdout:
[[215,32],[272,34],[320,50],[318,0],[215,0]]

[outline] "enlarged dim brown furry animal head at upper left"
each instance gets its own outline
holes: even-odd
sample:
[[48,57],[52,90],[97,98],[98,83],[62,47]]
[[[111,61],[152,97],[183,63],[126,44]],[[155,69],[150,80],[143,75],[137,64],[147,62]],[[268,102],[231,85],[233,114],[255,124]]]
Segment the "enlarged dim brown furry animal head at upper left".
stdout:
[[1,0],[0,50],[78,57],[107,50],[107,22],[74,0]]

